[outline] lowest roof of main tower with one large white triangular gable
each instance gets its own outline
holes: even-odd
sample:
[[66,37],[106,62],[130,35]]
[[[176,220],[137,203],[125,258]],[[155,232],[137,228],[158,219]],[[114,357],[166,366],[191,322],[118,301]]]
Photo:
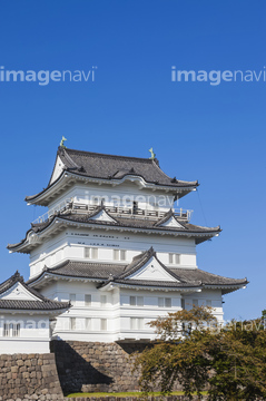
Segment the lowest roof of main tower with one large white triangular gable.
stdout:
[[[159,276],[152,274],[148,278],[145,270],[157,264]],[[152,270],[152,268],[151,268]],[[221,288],[229,293],[245,286],[247,278],[228,278],[208,273],[199,268],[169,268],[164,265],[151,247],[135,256],[132,262],[126,264],[105,264],[66,261],[51,268],[45,268],[39,275],[32,277],[28,285],[40,288],[49,281],[55,280],[88,280],[98,283],[98,288],[108,288],[114,285],[142,288],[160,288],[167,291],[189,291],[207,288]]]

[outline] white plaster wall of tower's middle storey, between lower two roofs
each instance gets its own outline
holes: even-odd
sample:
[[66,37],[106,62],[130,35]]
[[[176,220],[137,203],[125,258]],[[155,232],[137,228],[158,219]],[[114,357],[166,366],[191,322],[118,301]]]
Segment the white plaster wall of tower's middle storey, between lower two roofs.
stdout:
[[[119,263],[114,261],[114,250],[126,250],[127,258],[121,263],[130,263],[132,257],[154,246],[159,260],[171,267],[197,267],[196,245],[193,238],[180,238],[165,235],[108,233],[90,228],[67,228],[55,237],[35,248],[30,255],[30,277],[39,274],[45,266],[53,267],[59,263],[89,261],[85,258],[85,246],[98,247],[98,262]],[[169,265],[168,253],[180,254],[179,265]]]

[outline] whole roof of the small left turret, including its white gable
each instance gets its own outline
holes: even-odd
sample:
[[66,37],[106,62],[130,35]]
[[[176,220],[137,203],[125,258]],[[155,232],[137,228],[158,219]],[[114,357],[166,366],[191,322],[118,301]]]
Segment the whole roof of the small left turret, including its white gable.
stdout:
[[0,284],[0,311],[60,312],[70,307],[69,302],[51,301],[24,283],[16,272]]

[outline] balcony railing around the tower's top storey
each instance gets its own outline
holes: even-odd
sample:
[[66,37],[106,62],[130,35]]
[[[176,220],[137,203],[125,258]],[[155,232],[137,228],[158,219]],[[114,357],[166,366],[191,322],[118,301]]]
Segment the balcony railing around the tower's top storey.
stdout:
[[[77,213],[77,214],[87,214],[93,213],[96,207],[99,205],[92,204],[81,204],[81,203],[73,203],[71,199],[67,199],[57,207],[48,211],[42,216],[39,216],[33,224],[45,223],[50,219],[55,214],[60,213]],[[114,216],[124,217],[124,218],[148,218],[155,219],[161,218],[165,216],[167,211],[162,209],[148,209],[148,208],[140,208],[140,207],[126,207],[126,206],[107,206],[105,205],[106,211]],[[183,208],[173,208],[174,215],[179,219],[189,222],[191,218],[193,211],[183,209]]]

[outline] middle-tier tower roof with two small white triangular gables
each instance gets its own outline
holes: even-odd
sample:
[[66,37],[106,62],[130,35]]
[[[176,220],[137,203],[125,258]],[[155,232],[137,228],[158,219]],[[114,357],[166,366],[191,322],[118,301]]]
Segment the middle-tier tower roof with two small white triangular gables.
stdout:
[[[106,216],[110,217],[109,219],[97,219],[96,216],[101,211],[105,212]],[[164,225],[169,218],[174,218],[177,225],[168,226]],[[66,225],[77,225],[77,226],[87,226],[87,227],[100,227],[102,229],[118,229],[118,231],[129,231],[129,232],[148,232],[152,234],[168,234],[175,236],[189,236],[195,237],[196,243],[199,244],[203,241],[211,238],[215,235],[218,235],[221,229],[219,226],[216,227],[204,227],[194,225],[184,221],[179,221],[171,212],[166,213],[166,217],[154,219],[139,218],[138,215],[134,218],[112,216],[109,214],[105,206],[96,207],[95,211],[88,213],[75,213],[73,211],[58,213],[53,217],[49,218],[47,222],[31,224],[31,228],[26,233],[26,237],[17,244],[9,244],[8,250],[13,252],[28,253],[36,245],[39,245],[42,241],[41,238],[48,234],[49,229],[58,231],[63,228]]]

